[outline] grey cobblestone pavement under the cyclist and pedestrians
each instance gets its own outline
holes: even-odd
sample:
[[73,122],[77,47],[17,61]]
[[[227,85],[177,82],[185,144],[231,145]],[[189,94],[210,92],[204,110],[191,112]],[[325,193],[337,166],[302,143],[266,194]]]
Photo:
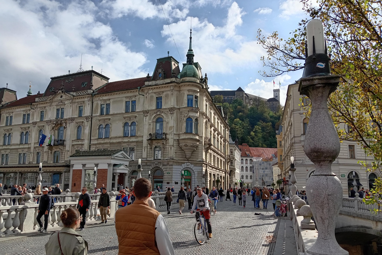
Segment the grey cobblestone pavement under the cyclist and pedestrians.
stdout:
[[[273,255],[278,232],[278,220],[272,211],[255,210],[252,201],[247,207],[233,205],[233,201],[217,204],[217,214],[211,216],[213,238],[202,246],[198,245],[193,235],[194,214],[185,208],[180,215],[172,209],[167,215],[162,212],[169,227],[170,236],[177,255]],[[262,213],[264,215],[254,215]],[[48,228],[49,230],[49,228]],[[56,229],[59,230],[59,229]],[[113,221],[105,225],[88,224],[81,232],[89,242],[89,254],[116,255],[118,241]],[[1,255],[43,255],[44,245],[51,233],[21,234],[0,238]]]

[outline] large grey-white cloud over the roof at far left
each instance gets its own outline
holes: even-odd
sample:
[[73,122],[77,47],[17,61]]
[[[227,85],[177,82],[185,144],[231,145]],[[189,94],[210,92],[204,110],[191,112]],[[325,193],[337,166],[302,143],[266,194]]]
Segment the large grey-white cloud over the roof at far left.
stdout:
[[[99,9],[90,0],[62,5],[36,0],[21,4],[6,0],[0,9],[0,76],[21,98],[32,81],[32,91],[45,91],[49,77],[77,71],[83,53],[85,70],[104,70],[111,80],[145,76],[147,61],[119,41],[112,28],[96,20]],[[15,32],[17,31],[17,33]],[[75,67],[75,68],[74,68]],[[19,74],[23,73],[23,76]]]

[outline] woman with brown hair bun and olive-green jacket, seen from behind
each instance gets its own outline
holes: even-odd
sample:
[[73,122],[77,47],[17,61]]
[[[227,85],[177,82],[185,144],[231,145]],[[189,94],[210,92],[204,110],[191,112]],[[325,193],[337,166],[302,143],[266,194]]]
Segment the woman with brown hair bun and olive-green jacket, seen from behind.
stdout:
[[64,227],[50,236],[45,244],[45,253],[49,255],[87,255],[88,242],[76,232],[81,223],[80,213],[69,207],[61,212],[60,219]]

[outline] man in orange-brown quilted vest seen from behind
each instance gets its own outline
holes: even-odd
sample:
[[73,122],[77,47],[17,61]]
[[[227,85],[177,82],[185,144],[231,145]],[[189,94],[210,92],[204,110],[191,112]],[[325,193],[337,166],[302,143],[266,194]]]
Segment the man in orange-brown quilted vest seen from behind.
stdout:
[[135,203],[115,212],[118,254],[174,255],[165,219],[147,202],[152,194],[150,181],[137,179],[133,193]]

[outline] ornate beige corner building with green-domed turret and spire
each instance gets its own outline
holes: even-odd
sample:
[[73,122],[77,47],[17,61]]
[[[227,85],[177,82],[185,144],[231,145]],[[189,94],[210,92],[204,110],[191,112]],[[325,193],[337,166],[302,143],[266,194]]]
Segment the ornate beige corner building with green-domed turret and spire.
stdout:
[[[52,77],[45,92],[0,109],[0,182],[60,183],[73,192],[104,184],[153,188],[227,188],[229,127],[208,92],[207,75],[191,47],[182,71],[172,56],[157,59],[146,77],[108,82],[94,70]],[[39,146],[42,134],[47,135]],[[50,135],[54,139],[49,142]],[[150,173],[150,174],[149,174]]]

